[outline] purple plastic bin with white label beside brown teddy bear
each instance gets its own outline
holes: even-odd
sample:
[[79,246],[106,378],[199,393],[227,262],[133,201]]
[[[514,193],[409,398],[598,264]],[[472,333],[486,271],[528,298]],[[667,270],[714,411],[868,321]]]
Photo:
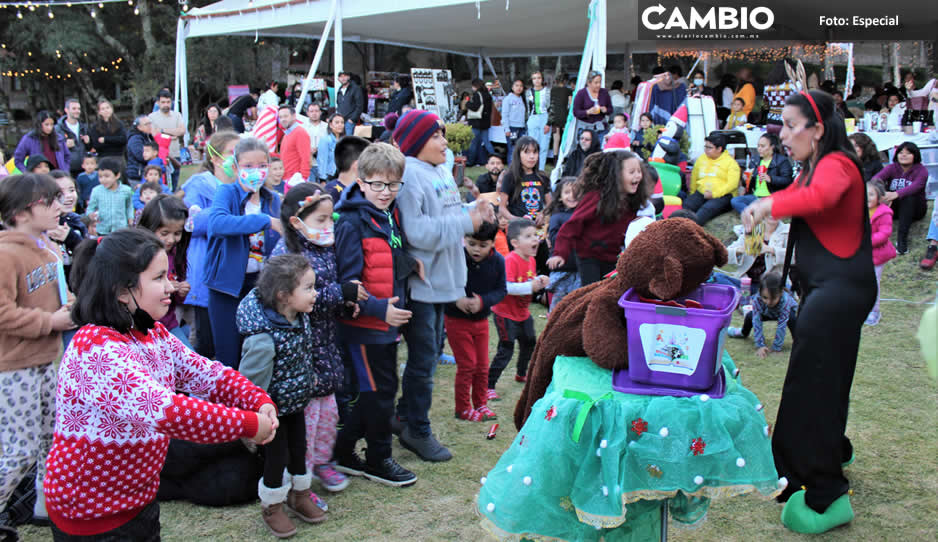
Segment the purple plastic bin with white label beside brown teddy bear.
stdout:
[[619,298],[628,326],[633,382],[700,391],[713,387],[739,290],[703,284],[676,301],[683,304],[687,299],[703,308],[644,303],[634,289]]

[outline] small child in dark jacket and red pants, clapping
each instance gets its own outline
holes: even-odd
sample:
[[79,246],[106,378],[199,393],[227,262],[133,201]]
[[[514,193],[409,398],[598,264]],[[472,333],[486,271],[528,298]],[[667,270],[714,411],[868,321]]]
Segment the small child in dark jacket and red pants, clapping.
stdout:
[[507,293],[505,259],[492,250],[496,231],[486,222],[465,237],[466,295],[448,304],[443,317],[456,358],[456,417],[473,422],[495,419],[487,405],[489,313]]

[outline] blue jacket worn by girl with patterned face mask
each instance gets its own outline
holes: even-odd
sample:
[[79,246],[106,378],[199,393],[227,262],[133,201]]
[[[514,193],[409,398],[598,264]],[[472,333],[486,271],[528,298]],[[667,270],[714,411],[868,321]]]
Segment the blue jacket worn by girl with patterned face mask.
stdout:
[[251,251],[249,236],[264,230],[264,247],[273,250],[279,235],[269,228],[270,218],[280,216],[280,199],[261,188],[261,212],[245,215],[244,207],[251,193],[240,183],[223,184],[215,190],[208,209],[205,253],[205,285],[218,292],[238,297],[244,284]]

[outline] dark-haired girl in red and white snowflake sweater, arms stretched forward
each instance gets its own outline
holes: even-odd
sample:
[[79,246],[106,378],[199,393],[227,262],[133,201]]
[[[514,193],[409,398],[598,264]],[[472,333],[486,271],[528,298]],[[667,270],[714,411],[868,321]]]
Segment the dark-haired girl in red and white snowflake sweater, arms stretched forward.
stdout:
[[139,228],[76,251],[72,318],[84,327],[59,368],[44,482],[57,542],[158,540],[156,493],[171,438],[273,438],[276,410],[263,390],[156,322],[173,293],[167,268],[163,243]]

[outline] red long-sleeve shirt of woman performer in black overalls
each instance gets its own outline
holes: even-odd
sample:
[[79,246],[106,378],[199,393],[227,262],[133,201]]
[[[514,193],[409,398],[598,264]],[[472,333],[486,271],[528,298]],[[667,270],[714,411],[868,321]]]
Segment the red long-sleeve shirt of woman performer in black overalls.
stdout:
[[835,152],[821,158],[809,186],[800,181],[769,196],[772,216],[802,218],[824,248],[840,258],[852,256],[868,220],[863,174],[845,154]]

